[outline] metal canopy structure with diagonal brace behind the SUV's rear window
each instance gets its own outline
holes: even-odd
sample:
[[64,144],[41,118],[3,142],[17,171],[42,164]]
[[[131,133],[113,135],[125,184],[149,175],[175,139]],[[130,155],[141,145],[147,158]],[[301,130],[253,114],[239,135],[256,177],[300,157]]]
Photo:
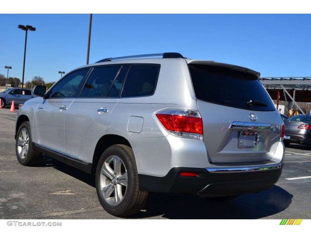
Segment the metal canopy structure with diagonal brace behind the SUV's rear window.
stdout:
[[[305,114],[297,102],[311,102],[311,77],[263,77],[259,80],[272,99],[292,101],[300,112]],[[283,95],[280,94],[281,91]]]

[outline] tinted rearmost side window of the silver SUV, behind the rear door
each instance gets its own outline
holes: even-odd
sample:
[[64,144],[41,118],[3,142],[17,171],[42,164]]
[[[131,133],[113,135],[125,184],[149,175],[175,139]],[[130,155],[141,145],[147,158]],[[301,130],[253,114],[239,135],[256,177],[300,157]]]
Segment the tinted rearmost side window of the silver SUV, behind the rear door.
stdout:
[[132,65],[126,76],[121,97],[148,96],[154,93],[159,66]]

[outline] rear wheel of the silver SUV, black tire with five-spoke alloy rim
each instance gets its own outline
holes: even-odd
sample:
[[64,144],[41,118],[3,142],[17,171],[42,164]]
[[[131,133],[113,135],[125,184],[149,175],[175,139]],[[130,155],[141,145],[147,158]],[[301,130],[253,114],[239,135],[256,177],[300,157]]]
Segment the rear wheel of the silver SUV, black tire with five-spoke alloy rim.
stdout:
[[134,153],[126,145],[113,145],[104,151],[95,179],[101,205],[114,216],[133,215],[146,203],[148,192],[139,190]]

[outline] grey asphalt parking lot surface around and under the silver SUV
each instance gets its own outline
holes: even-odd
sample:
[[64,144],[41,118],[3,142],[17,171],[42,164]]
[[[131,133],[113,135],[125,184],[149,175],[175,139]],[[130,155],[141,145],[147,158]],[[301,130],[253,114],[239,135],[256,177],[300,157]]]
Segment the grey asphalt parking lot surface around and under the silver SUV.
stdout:
[[[16,112],[0,109],[0,219],[116,219],[101,207],[95,178],[44,156],[37,167],[15,154]],[[144,219],[311,219],[311,147],[285,149],[282,176],[270,190],[230,202],[196,195],[150,193]]]

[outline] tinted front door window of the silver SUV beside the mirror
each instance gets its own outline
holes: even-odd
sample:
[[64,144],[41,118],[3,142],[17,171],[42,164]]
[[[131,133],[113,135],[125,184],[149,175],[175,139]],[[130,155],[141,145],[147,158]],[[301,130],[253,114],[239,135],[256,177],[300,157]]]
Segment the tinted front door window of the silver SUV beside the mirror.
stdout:
[[74,71],[66,75],[58,82],[49,93],[49,98],[73,98],[75,97],[81,80],[86,75],[88,69]]

